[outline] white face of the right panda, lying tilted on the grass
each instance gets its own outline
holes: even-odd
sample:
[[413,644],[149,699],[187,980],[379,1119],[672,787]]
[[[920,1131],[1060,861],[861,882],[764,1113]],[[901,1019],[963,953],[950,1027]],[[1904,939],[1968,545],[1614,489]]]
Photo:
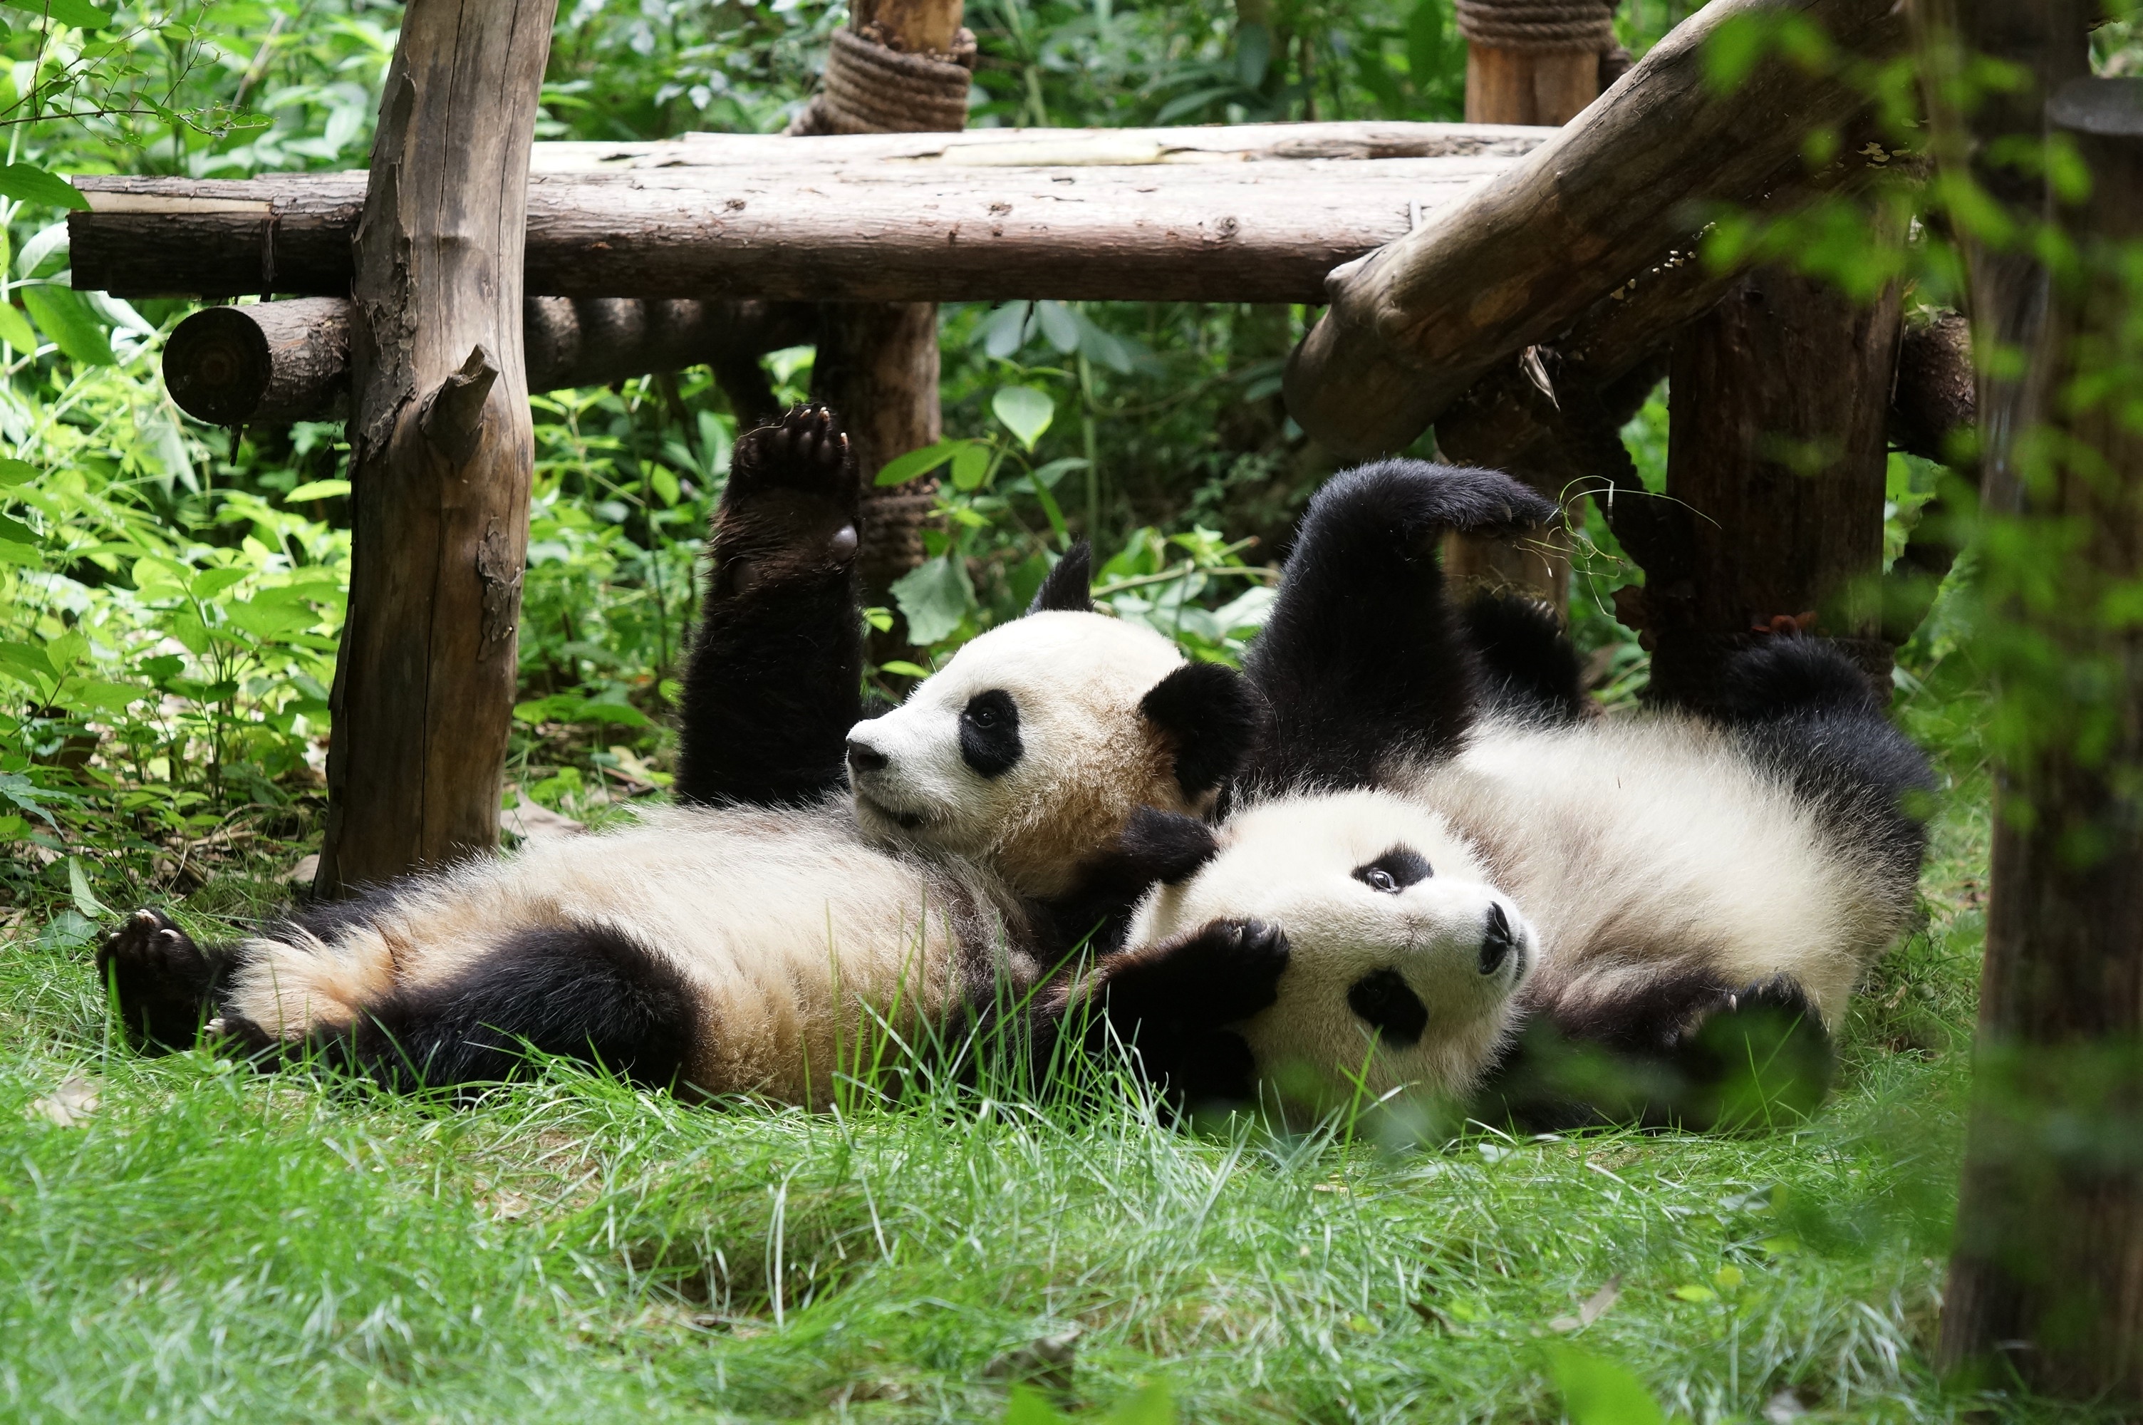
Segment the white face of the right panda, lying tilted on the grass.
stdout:
[[1539,936],[1436,812],[1384,791],[1237,812],[1217,853],[1140,904],[1129,947],[1215,919],[1277,926],[1277,999],[1234,1033],[1264,1093],[1320,1110],[1357,1091],[1457,1099],[1511,1033]]

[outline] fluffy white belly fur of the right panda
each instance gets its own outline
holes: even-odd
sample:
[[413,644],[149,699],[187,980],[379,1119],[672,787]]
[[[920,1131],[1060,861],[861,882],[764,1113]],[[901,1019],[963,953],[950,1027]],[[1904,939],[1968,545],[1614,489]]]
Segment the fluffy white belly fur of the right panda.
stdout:
[[1912,913],[1789,789],[1704,722],[1489,726],[1414,791],[1481,846],[1541,934],[1530,999],[1704,964],[1794,975],[1837,1026]]

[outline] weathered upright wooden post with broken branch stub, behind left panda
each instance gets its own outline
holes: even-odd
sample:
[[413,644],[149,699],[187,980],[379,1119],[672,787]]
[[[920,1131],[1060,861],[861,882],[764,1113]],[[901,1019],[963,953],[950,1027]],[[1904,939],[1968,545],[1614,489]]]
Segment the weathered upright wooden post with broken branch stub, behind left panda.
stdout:
[[521,244],[555,9],[411,0],[379,96],[324,896],[497,842],[534,463]]

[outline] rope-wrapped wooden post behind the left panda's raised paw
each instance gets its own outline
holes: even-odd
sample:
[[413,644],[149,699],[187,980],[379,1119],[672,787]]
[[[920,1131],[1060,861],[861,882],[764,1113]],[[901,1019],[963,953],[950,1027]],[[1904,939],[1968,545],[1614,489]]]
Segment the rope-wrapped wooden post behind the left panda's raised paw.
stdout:
[[[945,58],[960,41],[962,0],[859,0],[857,34],[885,49]],[[973,41],[969,39],[969,47]],[[829,62],[831,69],[831,62]],[[831,86],[829,86],[831,88]],[[827,94],[821,99],[831,99]],[[962,96],[964,114],[964,96]],[[857,129],[934,131],[943,114],[917,105],[898,111],[872,105],[855,116]],[[891,120],[891,122],[887,122]],[[954,259],[947,259],[954,261]],[[827,304],[819,319],[819,356],[812,399],[842,414],[864,471],[864,583],[883,598],[885,587],[921,564],[921,519],[932,506],[934,480],[900,491],[874,491],[870,480],[898,454],[930,446],[943,435],[939,407],[936,306],[930,302]],[[904,632],[904,628],[902,628]],[[904,639],[872,639],[879,662]]]

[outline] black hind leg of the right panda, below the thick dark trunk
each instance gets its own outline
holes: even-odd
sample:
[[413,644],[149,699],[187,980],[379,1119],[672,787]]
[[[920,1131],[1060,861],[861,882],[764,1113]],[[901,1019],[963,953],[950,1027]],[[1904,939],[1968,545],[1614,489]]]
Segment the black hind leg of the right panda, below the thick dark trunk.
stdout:
[[1834,836],[1879,849],[1884,874],[1916,881],[1935,776],[1867,673],[1824,639],[1774,634],[1736,654],[1723,684],[1721,718],[1749,756]]

